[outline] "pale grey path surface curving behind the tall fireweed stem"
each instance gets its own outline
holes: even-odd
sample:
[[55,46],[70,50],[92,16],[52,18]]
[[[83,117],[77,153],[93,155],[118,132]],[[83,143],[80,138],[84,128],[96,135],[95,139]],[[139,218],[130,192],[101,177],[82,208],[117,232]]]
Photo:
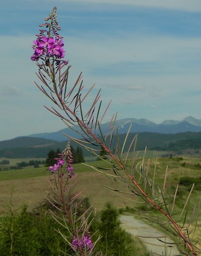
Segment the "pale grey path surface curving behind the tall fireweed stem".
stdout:
[[[161,237],[165,236],[164,233],[162,233],[160,230],[145,224],[143,221],[140,221],[138,219],[135,219],[133,216],[129,215],[122,215],[120,216],[120,221],[121,221],[121,226],[130,234],[135,235],[135,236],[147,236],[147,237]],[[152,244],[157,244],[157,245],[164,245],[164,243],[160,242],[157,238],[144,238],[144,237],[139,237],[142,241],[152,243]],[[159,238],[161,240],[165,240],[167,242],[173,242],[169,237],[166,238]],[[154,246],[154,245],[149,245],[147,243],[144,243],[145,246],[147,247],[148,251],[152,251],[153,253],[158,253],[160,255],[165,255],[165,249],[164,247],[160,246]],[[175,245],[173,245],[175,246]],[[177,248],[173,247],[167,247],[167,255],[169,256],[174,256],[174,255],[181,255]]]

